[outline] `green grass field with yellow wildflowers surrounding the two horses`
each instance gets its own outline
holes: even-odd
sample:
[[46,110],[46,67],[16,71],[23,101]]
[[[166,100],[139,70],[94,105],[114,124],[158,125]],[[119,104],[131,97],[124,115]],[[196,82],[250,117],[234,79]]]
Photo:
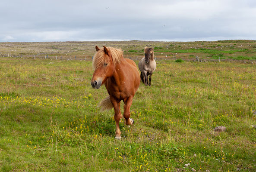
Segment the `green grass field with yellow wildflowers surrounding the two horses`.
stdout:
[[117,140],[92,61],[0,58],[0,171],[255,172],[256,65],[157,62]]

